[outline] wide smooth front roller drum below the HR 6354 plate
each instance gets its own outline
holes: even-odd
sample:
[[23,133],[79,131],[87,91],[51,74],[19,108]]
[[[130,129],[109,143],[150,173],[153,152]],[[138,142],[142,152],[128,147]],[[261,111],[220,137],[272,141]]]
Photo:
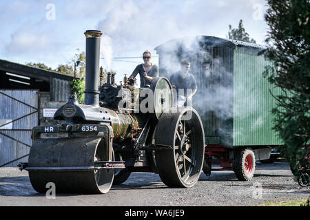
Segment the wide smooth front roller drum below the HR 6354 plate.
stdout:
[[103,140],[98,137],[36,140],[28,160],[34,190],[45,193],[47,184],[52,182],[56,192],[108,192],[114,169],[95,167],[96,162],[109,159]]

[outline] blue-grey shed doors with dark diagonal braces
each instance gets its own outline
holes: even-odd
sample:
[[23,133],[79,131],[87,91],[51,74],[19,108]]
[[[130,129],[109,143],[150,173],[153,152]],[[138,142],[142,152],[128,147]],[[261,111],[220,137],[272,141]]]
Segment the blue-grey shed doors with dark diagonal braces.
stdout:
[[28,162],[31,131],[37,125],[37,90],[0,89],[0,167]]

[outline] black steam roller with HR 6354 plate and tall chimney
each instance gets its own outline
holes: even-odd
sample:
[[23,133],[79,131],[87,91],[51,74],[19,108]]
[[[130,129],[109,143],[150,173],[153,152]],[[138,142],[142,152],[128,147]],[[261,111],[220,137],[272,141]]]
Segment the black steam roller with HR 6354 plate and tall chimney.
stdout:
[[164,77],[135,88],[134,79],[116,85],[107,74],[99,88],[101,32],[87,30],[85,104],[76,96],[54,113],[59,124],[32,129],[28,163],[37,192],[105,193],[132,172],[158,173],[167,186],[189,188],[203,168],[203,124],[192,107],[173,107],[172,85]]

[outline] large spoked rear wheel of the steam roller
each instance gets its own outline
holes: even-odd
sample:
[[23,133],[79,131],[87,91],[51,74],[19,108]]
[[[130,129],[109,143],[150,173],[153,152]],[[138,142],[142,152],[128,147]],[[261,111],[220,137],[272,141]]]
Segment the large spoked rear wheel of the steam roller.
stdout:
[[170,187],[189,188],[199,179],[205,154],[203,124],[195,109],[167,109],[155,131],[156,168]]

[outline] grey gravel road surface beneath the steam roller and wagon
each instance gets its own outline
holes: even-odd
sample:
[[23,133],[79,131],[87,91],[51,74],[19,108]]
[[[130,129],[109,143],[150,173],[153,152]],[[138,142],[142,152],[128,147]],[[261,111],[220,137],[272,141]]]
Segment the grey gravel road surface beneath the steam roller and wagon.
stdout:
[[284,162],[257,162],[252,181],[220,171],[209,177],[202,173],[193,188],[168,188],[154,173],[132,173],[105,195],[56,194],[55,199],[37,193],[27,171],[0,168],[0,206],[255,206],[309,196],[310,188],[301,188]]

